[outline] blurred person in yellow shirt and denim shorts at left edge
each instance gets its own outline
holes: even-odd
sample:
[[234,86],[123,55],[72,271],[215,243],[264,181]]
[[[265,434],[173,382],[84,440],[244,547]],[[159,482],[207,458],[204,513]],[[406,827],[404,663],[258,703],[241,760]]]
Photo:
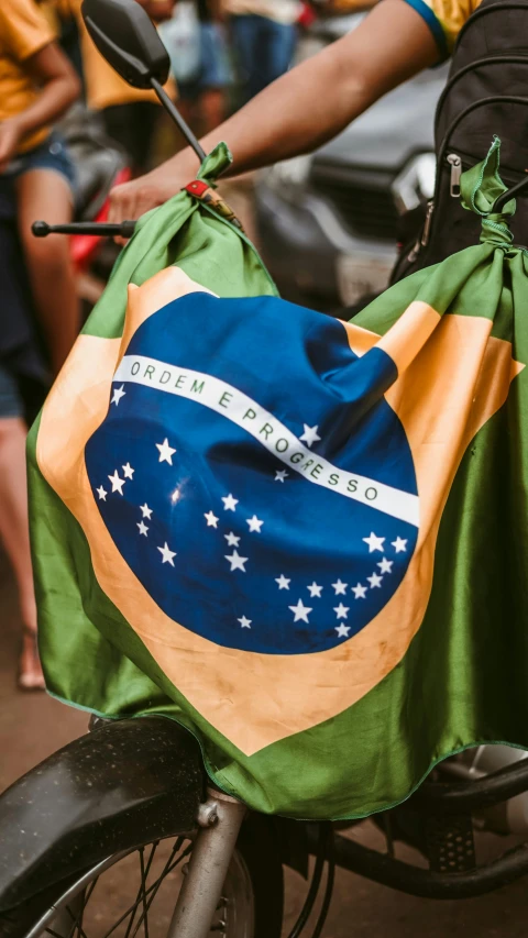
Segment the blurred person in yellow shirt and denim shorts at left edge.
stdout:
[[52,125],[79,95],[72,65],[35,0],[0,5],[0,176],[12,183],[21,242],[53,371],[78,331],[75,277],[64,239],[38,241],[35,219],[70,221],[74,168]]

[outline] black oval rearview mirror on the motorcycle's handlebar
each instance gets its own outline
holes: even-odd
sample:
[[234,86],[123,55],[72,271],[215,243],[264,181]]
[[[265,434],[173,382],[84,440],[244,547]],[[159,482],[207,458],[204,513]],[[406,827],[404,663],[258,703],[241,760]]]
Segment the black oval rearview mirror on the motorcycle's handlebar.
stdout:
[[116,71],[134,88],[164,85],[170,60],[157,30],[136,0],[84,0],[86,29]]

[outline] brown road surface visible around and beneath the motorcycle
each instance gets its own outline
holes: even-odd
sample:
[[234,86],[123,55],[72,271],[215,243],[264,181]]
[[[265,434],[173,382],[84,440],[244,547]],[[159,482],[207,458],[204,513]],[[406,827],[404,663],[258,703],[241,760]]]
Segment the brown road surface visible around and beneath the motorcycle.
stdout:
[[[86,729],[86,716],[57,704],[44,694],[20,694],[15,689],[14,669],[18,647],[18,613],[14,591],[7,567],[0,560],[0,790]],[[1,836],[1,831],[0,831]],[[381,836],[371,823],[351,835],[371,847],[382,847]],[[497,849],[497,838],[480,837],[483,853]],[[502,847],[503,843],[498,843]],[[414,859],[411,851],[398,848],[402,859]],[[103,934],[111,907],[119,907],[129,885],[128,873],[113,879],[105,908],[98,907],[96,930]],[[287,926],[292,926],[302,901],[305,886],[295,873],[287,874]],[[169,905],[164,903],[151,938],[164,935]],[[465,902],[428,902],[404,896],[359,876],[338,871],[336,895],[324,938],[526,938],[528,931],[528,890],[526,881],[499,893]],[[308,933],[309,934],[309,933]]]

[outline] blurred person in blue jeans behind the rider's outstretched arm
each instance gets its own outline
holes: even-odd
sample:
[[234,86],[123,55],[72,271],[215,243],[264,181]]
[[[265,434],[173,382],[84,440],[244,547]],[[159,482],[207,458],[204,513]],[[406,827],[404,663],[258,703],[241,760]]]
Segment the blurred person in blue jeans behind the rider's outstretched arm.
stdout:
[[245,103],[292,65],[300,0],[223,0]]

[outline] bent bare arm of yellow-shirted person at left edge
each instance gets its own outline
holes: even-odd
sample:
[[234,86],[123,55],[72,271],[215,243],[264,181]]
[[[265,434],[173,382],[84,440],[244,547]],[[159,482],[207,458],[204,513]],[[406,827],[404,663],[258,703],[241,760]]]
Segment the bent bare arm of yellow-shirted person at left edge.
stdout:
[[29,108],[0,124],[0,173],[25,136],[62,118],[80,93],[79,79],[56,43],[41,48],[24,65],[41,91]]

